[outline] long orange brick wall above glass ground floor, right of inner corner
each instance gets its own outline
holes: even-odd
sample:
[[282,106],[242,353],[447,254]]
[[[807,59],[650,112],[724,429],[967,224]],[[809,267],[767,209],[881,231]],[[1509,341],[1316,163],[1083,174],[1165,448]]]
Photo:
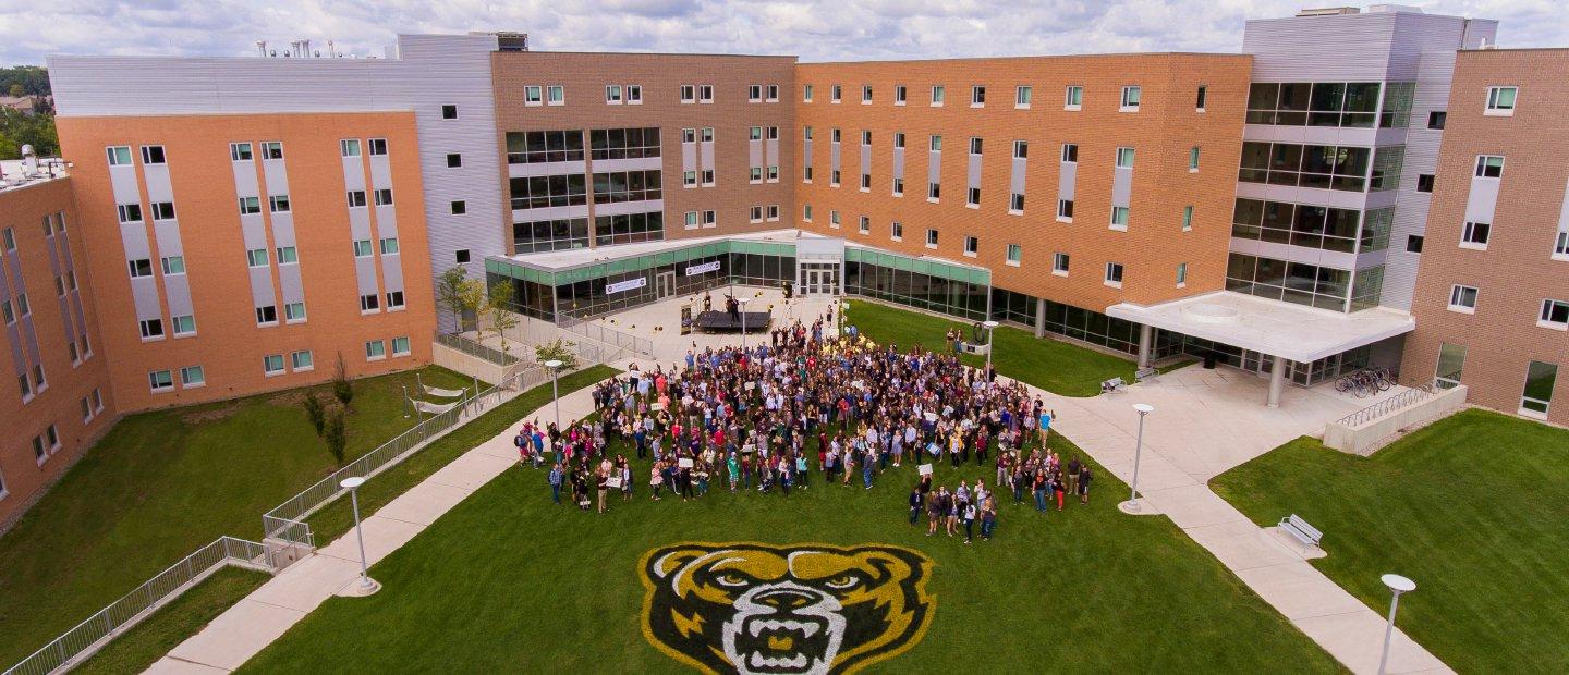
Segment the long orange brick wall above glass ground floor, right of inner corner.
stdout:
[[[1103,312],[1117,302],[1152,304],[1221,290],[1236,194],[1243,108],[1250,60],[1238,55],[1031,56],[940,61],[822,63],[795,70],[797,130],[813,127],[811,185],[797,185],[797,213],[811,204],[816,232],[865,241],[910,255],[935,255],[992,269],[995,287]],[[830,103],[832,85],[843,86]],[[814,85],[814,100],[802,88]],[[861,86],[874,102],[861,105]],[[894,85],[908,102],[893,105]],[[930,89],[946,86],[946,105],[934,108]],[[970,106],[973,85],[987,88],[984,108]],[[1015,110],[1015,88],[1029,85],[1029,110]],[[1064,91],[1084,86],[1083,110],[1065,111]],[[1142,88],[1138,113],[1120,113],[1122,86]],[[1205,111],[1196,111],[1200,85]],[[843,130],[841,186],[828,186],[832,128]],[[872,132],[872,185],[861,193],[860,135]],[[905,190],[893,197],[893,133],[905,133]],[[929,136],[943,136],[941,202],[926,200]],[[967,208],[968,143],[984,138],[981,208]],[[1025,215],[1007,213],[1015,139],[1029,143]],[[1059,158],[1076,143],[1078,180],[1072,224],[1056,221]],[[1127,232],[1109,229],[1116,150],[1138,152]],[[1188,171],[1188,152],[1200,146],[1200,171]],[[791,175],[800,183],[802,174]],[[1185,205],[1194,205],[1191,232],[1181,232]],[[828,215],[841,213],[832,230]],[[871,233],[858,233],[860,216]],[[891,241],[891,222],[904,224],[904,241]],[[924,246],[926,230],[940,232],[938,249]],[[977,257],[963,255],[965,236],[979,238]],[[1009,243],[1023,246],[1020,266],[1006,265]],[[1072,258],[1070,274],[1051,274],[1054,252]],[[1125,266],[1120,290],[1103,283],[1108,262]],[[1177,288],[1178,263],[1188,283]]]

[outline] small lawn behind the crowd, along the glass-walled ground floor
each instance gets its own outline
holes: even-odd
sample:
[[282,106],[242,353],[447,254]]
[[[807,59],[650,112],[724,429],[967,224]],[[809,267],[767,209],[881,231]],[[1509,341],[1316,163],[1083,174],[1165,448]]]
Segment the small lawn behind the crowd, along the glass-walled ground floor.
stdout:
[[[971,323],[965,319],[934,316],[919,312],[890,307],[880,302],[850,301],[846,315],[855,327],[879,345],[897,345],[907,349],[921,345],[927,349],[952,351],[943,340],[951,327],[970,335]],[[996,329],[996,351],[992,365],[996,371],[1064,396],[1097,396],[1100,384],[1122,377],[1133,382],[1134,363],[1078,345],[1051,338],[1036,338],[1036,334],[1012,326]],[[967,365],[984,366],[984,356],[965,356]]]

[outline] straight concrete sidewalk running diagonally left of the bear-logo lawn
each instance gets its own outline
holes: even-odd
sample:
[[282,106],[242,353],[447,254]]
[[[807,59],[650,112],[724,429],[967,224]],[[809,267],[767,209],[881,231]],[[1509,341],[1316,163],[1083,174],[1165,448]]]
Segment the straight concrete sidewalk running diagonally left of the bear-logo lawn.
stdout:
[[[626,363],[615,366],[624,370]],[[562,420],[579,420],[592,412],[593,396],[588,388],[562,396]],[[551,421],[555,418],[554,404],[548,402],[522,418]],[[511,440],[522,418],[508,423],[494,439],[464,453],[364,518],[366,559],[375,565],[474,490],[518,464],[518,448]],[[174,647],[147,672],[218,673],[238,669],[326,598],[353,595],[358,583],[359,543],[350,531],[273,576],[201,633]]]

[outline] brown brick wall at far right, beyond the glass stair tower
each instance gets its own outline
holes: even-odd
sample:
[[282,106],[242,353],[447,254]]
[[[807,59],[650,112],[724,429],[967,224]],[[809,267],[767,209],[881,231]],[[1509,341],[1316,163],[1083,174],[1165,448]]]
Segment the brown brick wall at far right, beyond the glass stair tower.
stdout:
[[[1513,116],[1484,116],[1487,88],[1519,86]],[[1461,52],[1437,185],[1412,299],[1406,384],[1434,376],[1442,343],[1464,345],[1470,401],[1516,412],[1531,360],[1558,363],[1549,420],[1569,424],[1569,334],[1538,327],[1542,299],[1569,301],[1569,262],[1552,260],[1569,183],[1569,50]],[[1503,155],[1487,251],[1461,249],[1476,155]],[[1478,288],[1476,313],[1450,312],[1454,283]]]

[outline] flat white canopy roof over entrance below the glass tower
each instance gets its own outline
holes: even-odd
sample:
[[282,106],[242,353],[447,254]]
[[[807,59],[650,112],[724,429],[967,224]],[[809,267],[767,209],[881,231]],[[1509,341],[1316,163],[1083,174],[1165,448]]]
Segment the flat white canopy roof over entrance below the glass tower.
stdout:
[[1122,302],[1106,315],[1304,363],[1417,327],[1409,313],[1387,307],[1345,313],[1235,291],[1155,305]]

